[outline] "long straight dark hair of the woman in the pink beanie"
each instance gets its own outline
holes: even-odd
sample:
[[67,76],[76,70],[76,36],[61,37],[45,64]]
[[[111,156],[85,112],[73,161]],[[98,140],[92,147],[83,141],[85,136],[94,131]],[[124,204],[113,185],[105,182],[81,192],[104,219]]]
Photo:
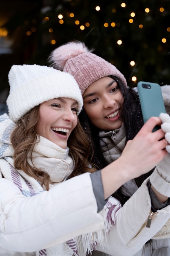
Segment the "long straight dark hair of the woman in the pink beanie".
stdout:
[[[133,139],[137,132],[144,125],[144,121],[142,119],[141,107],[139,102],[139,96],[137,92],[132,88],[126,88],[125,85],[117,79],[115,76],[110,76],[112,79],[117,81],[118,88],[121,90],[121,94],[124,97],[124,104],[121,108],[121,120],[124,122],[125,130],[126,130],[126,143],[128,140]],[[88,134],[89,138],[93,144],[93,160],[92,162],[100,169],[104,168],[108,164],[104,158],[102,153],[102,149],[100,146],[100,138],[99,138],[99,128],[95,127],[89,117],[86,114],[86,111],[83,110],[79,114],[79,120],[84,128],[86,134]],[[110,144],[115,146],[114,141],[110,139]],[[135,182],[137,186],[141,186],[142,182],[152,173],[150,172],[141,175],[140,177],[135,178]],[[120,187],[113,196],[117,198],[121,204],[123,205],[128,199],[128,196],[125,196],[122,192],[122,187]]]

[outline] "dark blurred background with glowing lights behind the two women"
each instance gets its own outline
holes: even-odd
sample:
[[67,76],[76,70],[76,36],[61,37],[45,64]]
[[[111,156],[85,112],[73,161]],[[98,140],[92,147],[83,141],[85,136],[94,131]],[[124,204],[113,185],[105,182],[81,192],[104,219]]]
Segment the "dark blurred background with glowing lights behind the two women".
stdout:
[[0,104],[11,65],[48,65],[71,40],[113,63],[130,86],[170,84],[170,0],[0,0]]

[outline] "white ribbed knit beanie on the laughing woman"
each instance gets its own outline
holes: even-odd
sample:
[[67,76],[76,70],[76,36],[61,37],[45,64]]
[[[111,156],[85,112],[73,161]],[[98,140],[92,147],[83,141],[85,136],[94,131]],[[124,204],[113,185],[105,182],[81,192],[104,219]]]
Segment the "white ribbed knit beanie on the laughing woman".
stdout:
[[7,106],[11,120],[17,121],[26,112],[50,99],[75,99],[78,112],[83,100],[77,82],[66,72],[40,65],[13,65],[9,71],[10,92]]

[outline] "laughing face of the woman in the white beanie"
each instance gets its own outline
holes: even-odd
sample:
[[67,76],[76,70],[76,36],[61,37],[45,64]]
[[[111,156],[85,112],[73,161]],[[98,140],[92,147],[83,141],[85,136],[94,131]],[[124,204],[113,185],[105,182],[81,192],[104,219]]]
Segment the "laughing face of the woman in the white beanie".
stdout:
[[77,101],[64,97],[40,104],[38,134],[65,149],[77,125],[77,107]]

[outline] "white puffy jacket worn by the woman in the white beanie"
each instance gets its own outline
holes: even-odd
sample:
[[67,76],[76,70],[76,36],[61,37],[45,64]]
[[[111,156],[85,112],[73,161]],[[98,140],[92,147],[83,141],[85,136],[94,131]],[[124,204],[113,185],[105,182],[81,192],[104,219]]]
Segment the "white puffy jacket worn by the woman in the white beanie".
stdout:
[[[150,209],[150,196],[144,182],[117,211],[104,248],[98,246],[97,249],[116,256],[132,256],[138,252],[170,218],[170,206],[167,206],[154,213],[147,228]],[[11,181],[0,179],[0,246],[7,249],[0,249],[1,256],[33,255],[24,252],[64,243],[103,227],[89,173],[31,198],[26,198]]]

